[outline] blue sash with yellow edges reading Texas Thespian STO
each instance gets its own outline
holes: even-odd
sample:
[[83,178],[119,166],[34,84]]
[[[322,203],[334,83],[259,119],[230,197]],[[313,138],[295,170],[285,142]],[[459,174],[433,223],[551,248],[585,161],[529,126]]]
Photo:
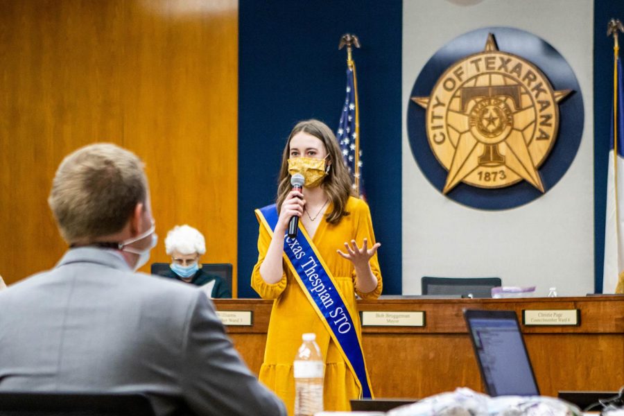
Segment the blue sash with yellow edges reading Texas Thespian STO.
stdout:
[[[256,209],[255,212],[258,221],[272,234],[278,218],[275,204]],[[354,319],[336,288],[329,268],[303,227],[299,227],[295,239],[284,236],[284,259],[355,375],[361,397],[372,398],[362,343]]]

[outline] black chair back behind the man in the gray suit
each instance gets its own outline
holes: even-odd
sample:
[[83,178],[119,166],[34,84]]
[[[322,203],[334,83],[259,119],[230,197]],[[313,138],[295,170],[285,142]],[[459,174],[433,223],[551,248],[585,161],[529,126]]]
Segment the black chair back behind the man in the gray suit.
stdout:
[[2,416],[154,416],[143,393],[0,392]]

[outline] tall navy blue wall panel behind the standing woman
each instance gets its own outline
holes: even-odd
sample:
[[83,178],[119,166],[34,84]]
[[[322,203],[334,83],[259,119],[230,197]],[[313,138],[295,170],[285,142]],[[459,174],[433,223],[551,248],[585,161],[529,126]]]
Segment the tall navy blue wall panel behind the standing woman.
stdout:
[[346,51],[354,33],[364,180],[383,293],[401,293],[402,2],[239,1],[239,297],[257,297],[254,208],[275,201],[288,133],[302,119],[336,131],[345,100]]

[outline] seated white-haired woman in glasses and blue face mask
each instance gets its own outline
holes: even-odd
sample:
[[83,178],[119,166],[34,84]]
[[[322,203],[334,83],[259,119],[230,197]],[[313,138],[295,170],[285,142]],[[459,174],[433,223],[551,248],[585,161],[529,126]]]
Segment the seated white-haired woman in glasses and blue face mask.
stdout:
[[165,249],[171,256],[171,270],[164,277],[202,286],[213,298],[232,297],[225,281],[202,270],[200,258],[206,254],[206,241],[202,233],[189,225],[176,225],[167,233]]

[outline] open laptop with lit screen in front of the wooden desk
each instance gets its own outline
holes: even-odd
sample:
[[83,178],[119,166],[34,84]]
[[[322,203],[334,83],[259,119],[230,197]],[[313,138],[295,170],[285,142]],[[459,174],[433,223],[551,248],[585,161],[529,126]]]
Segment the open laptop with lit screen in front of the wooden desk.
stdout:
[[539,395],[516,313],[465,310],[464,318],[485,392],[492,397]]

